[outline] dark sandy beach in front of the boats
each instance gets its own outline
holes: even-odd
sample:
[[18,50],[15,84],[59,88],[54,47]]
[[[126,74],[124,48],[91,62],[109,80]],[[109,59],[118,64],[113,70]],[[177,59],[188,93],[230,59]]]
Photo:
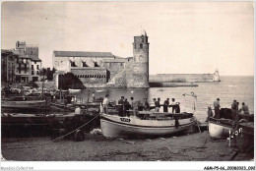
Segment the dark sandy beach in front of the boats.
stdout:
[[107,139],[86,135],[83,142],[49,138],[2,139],[2,155],[13,161],[249,161],[226,139],[213,140],[207,131],[155,139]]

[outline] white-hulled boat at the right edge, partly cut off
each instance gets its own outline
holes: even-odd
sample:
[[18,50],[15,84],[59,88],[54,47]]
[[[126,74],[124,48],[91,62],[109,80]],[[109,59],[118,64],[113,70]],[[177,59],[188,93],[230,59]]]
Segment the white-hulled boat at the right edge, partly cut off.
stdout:
[[[211,109],[209,109],[211,110]],[[240,114],[239,120],[245,119],[246,122],[251,121],[253,115]],[[234,114],[229,108],[222,108],[220,111],[220,119],[210,117],[209,133],[212,138],[227,138],[229,131],[232,132],[235,126]]]

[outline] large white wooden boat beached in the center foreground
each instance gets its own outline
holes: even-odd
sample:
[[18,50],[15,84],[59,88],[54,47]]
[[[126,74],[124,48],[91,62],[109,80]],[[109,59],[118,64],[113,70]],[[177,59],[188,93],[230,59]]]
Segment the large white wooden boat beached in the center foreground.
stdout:
[[[116,114],[116,113],[115,113]],[[156,113],[139,111],[137,116],[120,117],[101,113],[104,137],[167,136],[188,130],[194,123],[192,113]]]

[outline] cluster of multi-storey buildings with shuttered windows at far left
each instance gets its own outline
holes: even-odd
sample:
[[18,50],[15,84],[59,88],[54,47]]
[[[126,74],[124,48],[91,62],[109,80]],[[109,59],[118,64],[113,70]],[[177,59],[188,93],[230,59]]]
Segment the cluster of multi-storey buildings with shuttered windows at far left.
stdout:
[[[40,80],[41,60],[38,46],[16,42],[16,49],[2,50],[2,76],[4,82],[29,83]],[[5,78],[6,76],[6,78]]]

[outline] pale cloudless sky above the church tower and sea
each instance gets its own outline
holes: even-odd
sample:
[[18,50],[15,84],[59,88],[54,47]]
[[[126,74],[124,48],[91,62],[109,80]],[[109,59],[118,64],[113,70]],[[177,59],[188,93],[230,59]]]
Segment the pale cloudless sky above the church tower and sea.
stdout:
[[133,56],[145,29],[150,75],[254,75],[253,2],[4,2],[1,48],[38,44],[43,67],[53,50]]

